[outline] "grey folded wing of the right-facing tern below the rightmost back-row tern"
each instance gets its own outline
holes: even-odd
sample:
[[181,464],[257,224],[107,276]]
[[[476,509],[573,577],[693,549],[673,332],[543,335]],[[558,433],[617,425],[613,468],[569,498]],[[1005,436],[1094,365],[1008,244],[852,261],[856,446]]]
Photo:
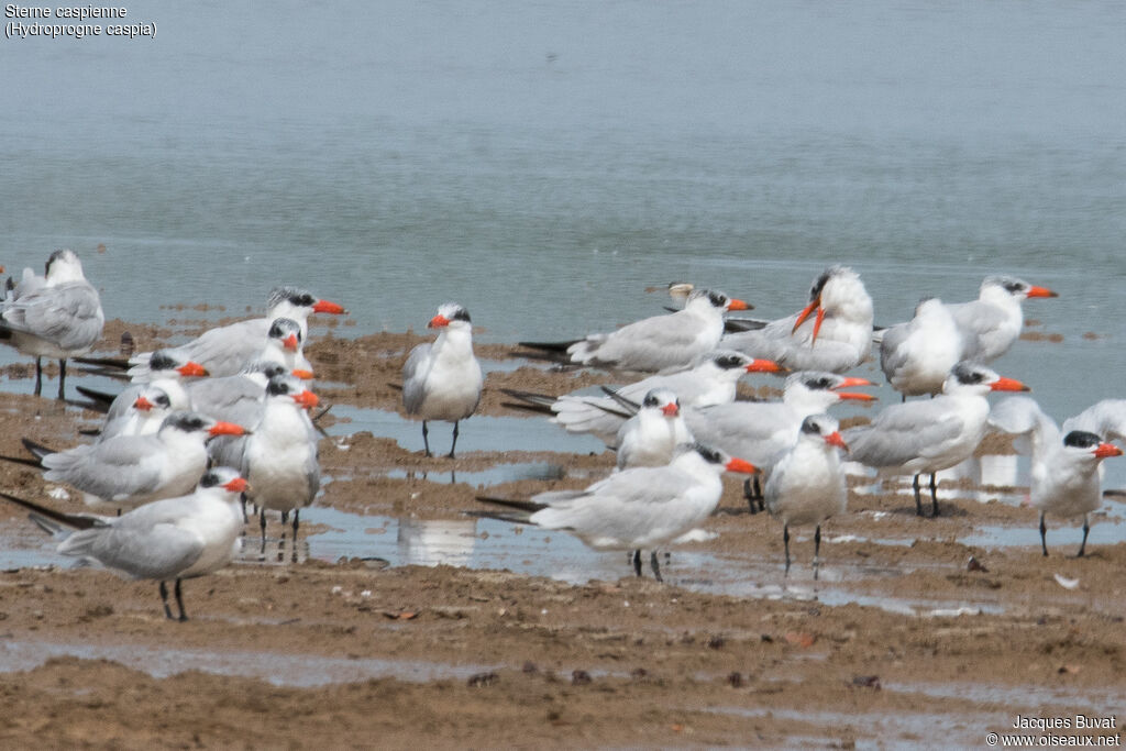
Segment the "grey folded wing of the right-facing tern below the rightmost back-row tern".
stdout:
[[[904,406],[922,409],[897,409]],[[930,406],[929,402],[896,404],[873,424],[844,431],[849,458],[870,467],[893,467],[939,452],[960,435],[963,420]]]

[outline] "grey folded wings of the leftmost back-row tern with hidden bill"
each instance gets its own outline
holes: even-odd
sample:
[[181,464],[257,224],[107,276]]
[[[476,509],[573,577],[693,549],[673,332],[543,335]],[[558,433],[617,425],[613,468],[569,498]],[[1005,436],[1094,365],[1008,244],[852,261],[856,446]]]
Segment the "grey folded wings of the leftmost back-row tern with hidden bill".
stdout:
[[83,349],[101,337],[105,316],[98,292],[87,281],[43,287],[23,295],[5,311],[14,329],[56,343]]

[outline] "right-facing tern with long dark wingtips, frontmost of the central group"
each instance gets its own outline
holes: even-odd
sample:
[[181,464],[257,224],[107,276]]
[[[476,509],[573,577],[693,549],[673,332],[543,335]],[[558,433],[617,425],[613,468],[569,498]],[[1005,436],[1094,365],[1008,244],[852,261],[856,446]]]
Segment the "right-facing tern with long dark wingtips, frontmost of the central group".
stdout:
[[638,576],[641,552],[651,551],[650,565],[661,581],[658,549],[711,516],[723,494],[724,472],[757,470],[723,452],[687,444],[670,464],[616,472],[586,490],[539,493],[530,501],[479,500],[515,511],[492,515],[507,521],[563,529],[597,551],[633,551]]

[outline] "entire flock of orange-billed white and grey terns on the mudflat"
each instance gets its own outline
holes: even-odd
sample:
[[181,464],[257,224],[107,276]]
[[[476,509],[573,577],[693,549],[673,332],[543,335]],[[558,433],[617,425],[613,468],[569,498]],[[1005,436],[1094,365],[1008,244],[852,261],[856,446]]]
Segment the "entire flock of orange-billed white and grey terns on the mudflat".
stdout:
[[[715,510],[724,472],[741,473],[749,475],[751,510],[765,508],[783,524],[787,572],[789,528],[815,527],[816,575],[821,525],[846,510],[848,462],[881,475],[912,475],[920,516],[920,476],[929,474],[931,516],[938,516],[935,473],[971,457],[994,429],[1030,445],[1030,500],[1039,510],[1044,555],[1045,513],[1082,517],[1083,555],[1088,515],[1101,502],[1100,463],[1123,453],[1108,441],[1126,439],[1126,401],[1099,402],[1061,429],[1028,396],[992,408],[986,399],[994,391],[1028,391],[989,364],[1019,338],[1024,301],[1055,293],[993,276],[975,301],[927,298],[910,321],[875,329],[872,298],[843,266],[817,276],[801,312],[776,320],[725,318],[750,306],[716,290],[678,285],[670,292],[683,299],[681,310],[574,341],[521,342],[529,357],[564,367],[634,375],[632,383],[599,395],[506,392],[513,406],[605,441],[617,453],[617,467],[580,491],[481,498],[498,510],[479,516],[564,529],[596,549],[628,551],[637,575],[647,551],[661,579],[658,551]],[[18,283],[9,279],[0,301],[0,337],[36,358],[36,394],[44,357],[60,360],[60,399],[68,359],[132,382],[116,395],[79,387],[87,406],[106,413],[91,442],[53,450],[25,440],[29,456],[0,457],[39,467],[45,480],[118,516],[65,513],[0,495],[28,508],[32,519],[61,540],[61,553],[159,581],[169,618],[168,582],[175,581],[184,620],[181,580],[230,562],[248,502],[258,510],[265,546],[266,511],[279,511],[283,524],[293,513],[296,535],[300,511],[320,488],[310,414],[318,400],[305,386],[313,367],[303,347],[311,314],[346,311],[294,287],[275,288],[267,302],[263,318],[117,360],[84,357],[100,339],[105,319],[73,252],[53,253],[42,277],[25,269]],[[428,325],[437,337],[405,360],[403,406],[422,421],[427,456],[428,422],[453,423],[453,457],[458,424],[476,411],[484,378],[465,307],[441,305]],[[847,373],[868,359],[874,346],[903,403],[842,431],[826,412],[842,401],[873,399],[849,391],[873,384]],[[741,377],[780,372],[788,374],[780,401],[736,401]]]

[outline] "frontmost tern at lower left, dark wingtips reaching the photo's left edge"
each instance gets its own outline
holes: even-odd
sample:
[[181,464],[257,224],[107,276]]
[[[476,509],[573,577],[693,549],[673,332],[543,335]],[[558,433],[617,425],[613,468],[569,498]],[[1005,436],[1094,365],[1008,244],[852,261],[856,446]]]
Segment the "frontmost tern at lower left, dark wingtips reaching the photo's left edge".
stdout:
[[164,616],[168,582],[176,580],[179,620],[187,620],[180,581],[222,569],[234,557],[242,531],[238,500],[247,482],[230,467],[203,475],[195,492],[168,498],[119,517],[95,517],[54,511],[8,493],[3,498],[32,511],[32,520],[56,538],[63,555],[96,562],[133,579],[160,582]]

